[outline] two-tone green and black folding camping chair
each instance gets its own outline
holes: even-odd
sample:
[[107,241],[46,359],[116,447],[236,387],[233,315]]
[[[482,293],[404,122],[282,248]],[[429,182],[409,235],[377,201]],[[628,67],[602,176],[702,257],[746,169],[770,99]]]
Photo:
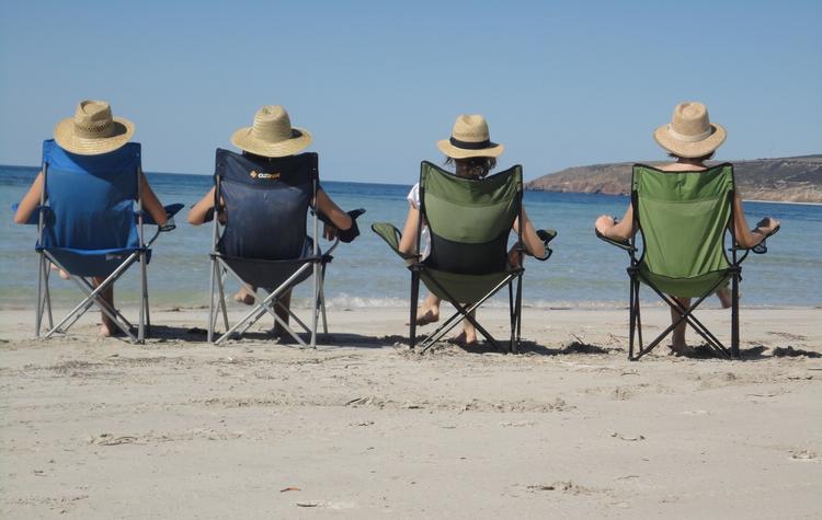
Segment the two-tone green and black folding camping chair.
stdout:
[[[516,165],[482,180],[458,177],[423,161],[420,169],[420,223],[416,251],[420,251],[422,223],[431,231],[431,253],[424,261],[419,255],[399,250],[400,231],[387,222],[375,223],[372,230],[389,247],[410,262],[411,321],[410,344],[416,346],[416,304],[420,280],[431,292],[450,302],[456,312],[434,333],[421,342],[422,351],[431,348],[454,328],[461,316],[468,320],[498,350],[493,336],[479,324],[473,311],[498,291],[509,288],[511,338],[509,351],[518,351],[522,328],[522,267],[507,265],[507,242],[514,219],[522,215],[523,173]],[[522,228],[522,227],[521,227]],[[556,235],[551,232],[550,238]],[[522,232],[517,250],[522,255]],[[546,251],[547,259],[550,250]],[[521,262],[522,265],[522,262]],[[514,289],[516,286],[516,289]]]

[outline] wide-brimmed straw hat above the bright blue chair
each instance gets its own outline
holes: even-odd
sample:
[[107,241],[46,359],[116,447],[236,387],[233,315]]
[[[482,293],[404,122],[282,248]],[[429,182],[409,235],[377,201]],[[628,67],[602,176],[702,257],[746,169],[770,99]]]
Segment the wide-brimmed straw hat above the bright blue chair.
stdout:
[[54,139],[64,150],[79,155],[99,155],[121,148],[134,135],[134,123],[112,117],[112,107],[104,101],[83,100],[75,117],[62,119],[54,127]]

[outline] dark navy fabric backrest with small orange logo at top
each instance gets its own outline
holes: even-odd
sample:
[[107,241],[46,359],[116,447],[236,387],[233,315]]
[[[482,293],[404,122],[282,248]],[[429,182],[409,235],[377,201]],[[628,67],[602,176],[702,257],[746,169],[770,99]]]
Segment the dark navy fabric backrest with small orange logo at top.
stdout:
[[227,217],[218,251],[242,258],[302,256],[318,180],[317,153],[252,159],[217,149],[217,200],[222,197]]

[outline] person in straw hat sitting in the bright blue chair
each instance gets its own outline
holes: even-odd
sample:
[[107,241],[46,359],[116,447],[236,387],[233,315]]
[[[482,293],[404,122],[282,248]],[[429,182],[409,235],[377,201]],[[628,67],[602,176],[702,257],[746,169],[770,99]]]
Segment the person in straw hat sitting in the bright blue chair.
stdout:
[[[77,105],[75,117],[62,119],[55,126],[54,139],[69,155],[103,155],[124,147],[132,139],[134,128],[134,124],[128,119],[113,117],[111,105],[105,101],[84,100]],[[43,172],[39,172],[18,206],[14,222],[26,223],[28,221],[41,204],[44,188]],[[164,226],[168,220],[165,209],[141,173],[140,192],[142,208],[157,224]],[[82,200],[78,200],[78,204],[82,204]],[[60,276],[68,278],[69,275],[60,271]],[[93,277],[94,287],[103,280],[103,278]],[[113,285],[104,289],[101,297],[114,307]],[[105,313],[101,312],[101,317],[103,323],[100,328],[101,336],[111,336],[118,331]]]

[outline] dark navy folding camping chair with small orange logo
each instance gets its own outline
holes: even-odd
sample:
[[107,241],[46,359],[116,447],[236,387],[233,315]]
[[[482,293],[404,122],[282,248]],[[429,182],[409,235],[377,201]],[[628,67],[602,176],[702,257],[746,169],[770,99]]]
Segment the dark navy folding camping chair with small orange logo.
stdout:
[[[309,206],[316,200],[319,185],[317,153],[252,160],[217,149],[214,182],[214,211],[209,216],[214,220],[214,233],[208,340],[219,344],[233,335],[241,336],[265,314],[271,314],[300,346],[316,347],[320,316],[323,333],[328,333],[323,280],[331,253],[340,242],[338,239],[327,252],[320,252],[317,211],[312,211],[313,236],[306,232]],[[361,212],[357,210],[356,215]],[[249,292],[260,288],[265,293],[232,326],[229,326],[226,307],[228,275]],[[289,307],[282,304],[281,298],[309,277],[312,303],[310,325],[307,325]],[[310,335],[308,343],[276,314],[277,307],[285,309]],[[225,333],[215,339],[220,314]]]

